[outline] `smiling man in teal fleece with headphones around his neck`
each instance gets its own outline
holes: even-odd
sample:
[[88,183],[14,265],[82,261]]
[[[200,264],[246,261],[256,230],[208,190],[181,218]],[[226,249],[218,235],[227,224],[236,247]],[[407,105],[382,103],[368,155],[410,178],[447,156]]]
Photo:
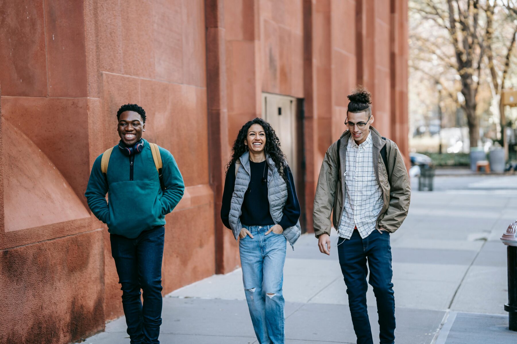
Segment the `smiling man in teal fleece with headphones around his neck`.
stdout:
[[160,147],[162,188],[149,142],[142,139],[143,108],[123,105],[117,119],[120,141],[112,150],[108,171],[102,173],[101,154],[85,196],[93,214],[108,225],[130,343],[158,344],[165,215],[181,200],[185,185],[174,157]]

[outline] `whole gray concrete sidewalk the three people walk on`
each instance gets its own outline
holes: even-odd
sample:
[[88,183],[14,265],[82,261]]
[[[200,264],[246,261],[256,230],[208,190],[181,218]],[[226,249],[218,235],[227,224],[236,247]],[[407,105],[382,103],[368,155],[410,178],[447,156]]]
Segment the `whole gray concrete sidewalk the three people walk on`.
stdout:
[[[477,177],[463,184],[458,178],[436,178],[436,189],[442,191],[413,192],[409,216],[391,235],[397,344],[517,342],[503,308],[506,247],[499,241],[517,218],[517,176],[497,182]],[[287,344],[356,342],[332,234],[330,256],[318,251],[313,235],[303,235],[295,251],[287,249]],[[375,341],[371,287],[367,298]],[[240,269],[169,294],[162,316],[164,344],[257,343]],[[125,331],[120,318],[86,342],[129,343]]]

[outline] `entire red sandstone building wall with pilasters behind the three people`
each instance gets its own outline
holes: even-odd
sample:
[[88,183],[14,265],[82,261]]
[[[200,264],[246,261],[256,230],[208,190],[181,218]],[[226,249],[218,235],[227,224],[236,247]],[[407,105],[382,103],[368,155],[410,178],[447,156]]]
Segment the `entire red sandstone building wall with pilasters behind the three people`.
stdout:
[[305,99],[309,231],[321,161],[356,84],[373,93],[375,127],[407,151],[403,0],[19,5],[0,0],[0,342],[70,342],[122,314],[109,234],[83,196],[94,159],[118,141],[121,104],[146,109],[144,137],[174,154],[187,186],[166,217],[164,293],[239,266],[220,200],[262,92]]

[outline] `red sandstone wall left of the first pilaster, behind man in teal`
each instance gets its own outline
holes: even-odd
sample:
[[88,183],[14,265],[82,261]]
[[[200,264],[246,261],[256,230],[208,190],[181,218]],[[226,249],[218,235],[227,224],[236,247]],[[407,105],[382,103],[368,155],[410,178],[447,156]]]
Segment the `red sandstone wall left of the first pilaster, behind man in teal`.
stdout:
[[25,5],[0,2],[0,342],[65,343],[122,314],[109,234],[83,196],[118,141],[121,104],[146,109],[145,137],[185,178],[166,217],[163,292],[215,272],[204,2]]

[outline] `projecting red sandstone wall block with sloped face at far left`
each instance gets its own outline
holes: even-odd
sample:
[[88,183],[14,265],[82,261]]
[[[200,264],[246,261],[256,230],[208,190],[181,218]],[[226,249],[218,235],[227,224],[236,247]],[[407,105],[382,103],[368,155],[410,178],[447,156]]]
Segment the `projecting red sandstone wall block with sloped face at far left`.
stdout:
[[104,328],[102,231],[83,196],[83,6],[2,1],[0,9],[0,342],[71,342]]

